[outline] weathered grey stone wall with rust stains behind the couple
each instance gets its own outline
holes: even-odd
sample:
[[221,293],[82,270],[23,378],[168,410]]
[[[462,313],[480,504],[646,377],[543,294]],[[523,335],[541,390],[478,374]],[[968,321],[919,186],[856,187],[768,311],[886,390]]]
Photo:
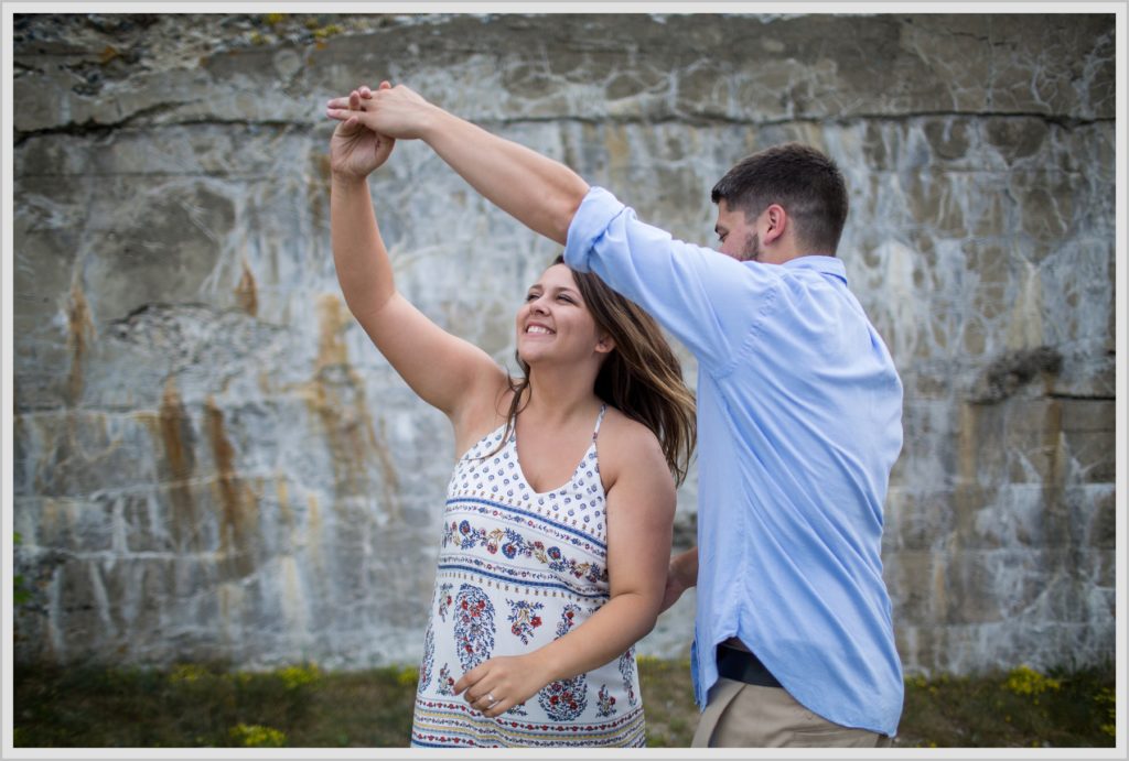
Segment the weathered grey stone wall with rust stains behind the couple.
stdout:
[[[16,657],[419,657],[453,441],[327,228],[324,101],[388,78],[693,241],[741,157],[830,153],[907,391],[907,670],[1112,660],[1114,47],[1112,15],[16,16]],[[401,290],[513,369],[555,246],[420,144],[371,186]]]

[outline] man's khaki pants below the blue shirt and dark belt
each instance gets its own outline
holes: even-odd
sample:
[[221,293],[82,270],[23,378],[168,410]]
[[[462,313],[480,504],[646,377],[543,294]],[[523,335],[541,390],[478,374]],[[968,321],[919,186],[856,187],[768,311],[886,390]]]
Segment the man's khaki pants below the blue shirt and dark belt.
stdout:
[[692,747],[890,747],[890,737],[832,724],[778,687],[718,679]]

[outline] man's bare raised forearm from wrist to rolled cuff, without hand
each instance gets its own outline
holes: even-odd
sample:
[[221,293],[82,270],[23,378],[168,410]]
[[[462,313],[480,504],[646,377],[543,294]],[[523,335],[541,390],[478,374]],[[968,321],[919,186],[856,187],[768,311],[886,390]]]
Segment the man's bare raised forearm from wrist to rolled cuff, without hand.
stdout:
[[563,245],[588,184],[563,163],[441,108],[421,135],[463,179],[530,229]]

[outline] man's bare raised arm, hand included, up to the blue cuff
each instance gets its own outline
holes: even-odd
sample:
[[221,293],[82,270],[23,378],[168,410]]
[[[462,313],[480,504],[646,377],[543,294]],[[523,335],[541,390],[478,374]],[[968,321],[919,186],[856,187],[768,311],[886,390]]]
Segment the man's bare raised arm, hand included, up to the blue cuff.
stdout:
[[358,88],[360,113],[349,97],[329,101],[338,121],[359,116],[379,134],[423,140],[481,195],[530,229],[563,245],[588,184],[575,171],[524,145],[428,103],[403,85]]

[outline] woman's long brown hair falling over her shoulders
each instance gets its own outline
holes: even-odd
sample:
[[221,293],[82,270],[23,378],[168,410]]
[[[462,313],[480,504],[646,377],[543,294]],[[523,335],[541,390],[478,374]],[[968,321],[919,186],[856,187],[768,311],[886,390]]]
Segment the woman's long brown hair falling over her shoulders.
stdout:
[[[564,264],[564,257],[558,256],[553,264]],[[597,327],[615,340],[596,375],[596,396],[655,434],[675,485],[681,485],[698,436],[694,395],[682,380],[682,365],[650,315],[607,287],[599,276],[569,272]],[[502,442],[509,439],[531,392],[530,365],[516,352],[515,359],[523,377],[509,379],[514,398]]]

